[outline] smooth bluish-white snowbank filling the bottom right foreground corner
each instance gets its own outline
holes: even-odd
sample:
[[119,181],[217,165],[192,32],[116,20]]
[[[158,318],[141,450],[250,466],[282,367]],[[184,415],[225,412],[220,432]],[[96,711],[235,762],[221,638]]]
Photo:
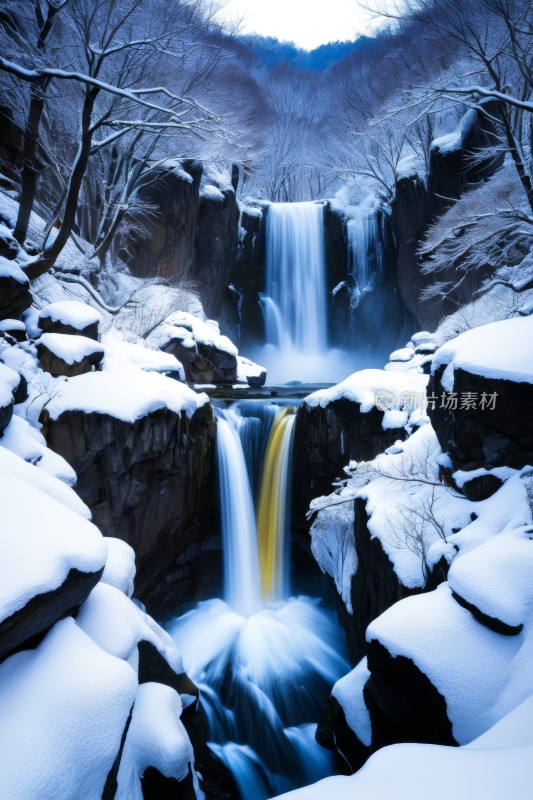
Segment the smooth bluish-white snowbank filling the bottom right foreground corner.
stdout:
[[355,775],[326,778],[274,800],[529,800],[533,698],[466,747],[396,744]]

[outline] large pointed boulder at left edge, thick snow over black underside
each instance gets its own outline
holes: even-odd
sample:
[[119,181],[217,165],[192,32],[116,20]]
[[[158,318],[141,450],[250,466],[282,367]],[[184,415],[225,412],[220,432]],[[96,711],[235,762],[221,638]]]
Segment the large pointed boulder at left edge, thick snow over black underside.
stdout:
[[65,484],[1,447],[0,477],[2,658],[85,600],[107,550]]

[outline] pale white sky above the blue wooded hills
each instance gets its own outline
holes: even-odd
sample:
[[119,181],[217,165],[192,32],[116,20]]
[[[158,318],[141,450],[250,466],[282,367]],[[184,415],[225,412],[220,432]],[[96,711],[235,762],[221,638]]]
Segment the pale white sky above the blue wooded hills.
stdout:
[[275,36],[305,50],[355,39],[369,23],[357,0],[228,0],[220,12],[221,20],[241,16],[241,33]]

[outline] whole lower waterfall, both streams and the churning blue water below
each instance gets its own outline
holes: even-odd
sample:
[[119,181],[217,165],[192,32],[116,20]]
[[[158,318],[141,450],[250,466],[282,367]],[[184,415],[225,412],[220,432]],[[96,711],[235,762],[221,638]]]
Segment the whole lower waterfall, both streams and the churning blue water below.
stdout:
[[262,401],[218,410],[225,597],[168,625],[200,688],[209,745],[241,800],[333,774],[314,734],[333,683],[349,670],[335,615],[317,599],[290,596],[293,411]]

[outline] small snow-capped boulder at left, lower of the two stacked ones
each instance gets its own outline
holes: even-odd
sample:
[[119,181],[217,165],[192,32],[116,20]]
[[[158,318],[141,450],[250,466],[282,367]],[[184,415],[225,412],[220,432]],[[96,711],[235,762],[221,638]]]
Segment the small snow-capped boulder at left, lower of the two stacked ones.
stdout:
[[104,348],[94,339],[65,333],[43,333],[37,341],[37,353],[42,369],[55,378],[73,378],[99,369],[104,358]]

